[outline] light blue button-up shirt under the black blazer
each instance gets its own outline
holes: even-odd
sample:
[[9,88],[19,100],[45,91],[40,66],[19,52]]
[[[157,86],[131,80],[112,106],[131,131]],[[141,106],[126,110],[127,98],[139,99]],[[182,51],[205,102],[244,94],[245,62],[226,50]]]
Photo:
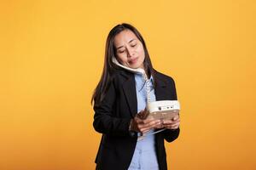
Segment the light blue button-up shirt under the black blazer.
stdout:
[[[142,74],[134,74],[137,92],[137,112],[143,111],[147,104],[146,82]],[[150,101],[155,101],[153,77],[150,77]],[[147,134],[154,133],[150,130]],[[155,152],[154,134],[146,136],[137,141],[137,145],[132,156],[128,170],[159,170],[157,156]]]

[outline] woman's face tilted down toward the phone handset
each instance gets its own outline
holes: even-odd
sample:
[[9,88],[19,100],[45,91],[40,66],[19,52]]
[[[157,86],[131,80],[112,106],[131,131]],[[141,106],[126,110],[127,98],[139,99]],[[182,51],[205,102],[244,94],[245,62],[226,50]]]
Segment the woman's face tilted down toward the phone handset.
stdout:
[[113,45],[116,48],[117,58],[122,65],[132,69],[144,69],[145,52],[143,43],[132,31],[119,32],[113,39]]

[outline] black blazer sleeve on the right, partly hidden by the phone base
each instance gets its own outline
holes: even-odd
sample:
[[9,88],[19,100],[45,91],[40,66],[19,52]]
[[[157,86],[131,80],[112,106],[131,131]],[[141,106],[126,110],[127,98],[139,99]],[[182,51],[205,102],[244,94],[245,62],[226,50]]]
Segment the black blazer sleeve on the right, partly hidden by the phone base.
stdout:
[[[175,87],[175,82],[170,77],[170,83],[168,83],[168,86],[170,86],[168,89],[172,91],[172,99],[177,100],[177,93],[176,93],[176,87]],[[167,142],[172,142],[173,140],[177,139],[178,135],[180,132],[180,128],[178,127],[175,130],[172,129],[166,129],[162,133],[164,133],[164,138],[166,139]]]

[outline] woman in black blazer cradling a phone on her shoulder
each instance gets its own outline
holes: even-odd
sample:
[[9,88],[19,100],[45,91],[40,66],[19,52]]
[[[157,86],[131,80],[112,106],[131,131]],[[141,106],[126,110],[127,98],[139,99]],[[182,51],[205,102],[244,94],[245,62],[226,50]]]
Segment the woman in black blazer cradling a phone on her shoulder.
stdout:
[[[147,74],[151,101],[177,99],[172,77],[154,70],[139,31],[129,24],[114,26],[106,42],[102,77],[92,96],[93,126],[102,133],[96,169],[167,169],[164,139],[177,139],[179,116],[164,122],[143,119],[146,86],[137,69]],[[166,130],[154,133],[160,128]],[[146,137],[137,140],[141,133]]]

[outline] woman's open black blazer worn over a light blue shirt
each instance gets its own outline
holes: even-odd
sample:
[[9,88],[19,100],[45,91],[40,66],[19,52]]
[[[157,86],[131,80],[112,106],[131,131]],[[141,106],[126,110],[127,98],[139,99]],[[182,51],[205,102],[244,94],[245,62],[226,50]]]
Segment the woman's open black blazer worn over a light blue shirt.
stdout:
[[[156,100],[177,99],[172,77],[155,71]],[[136,82],[133,73],[117,71],[113,75],[107,94],[100,105],[94,105],[93,126],[102,133],[101,144],[96,156],[96,168],[101,170],[126,170],[130,166],[137,135],[131,136],[129,125],[137,114]],[[179,128],[167,129],[155,134],[155,148],[160,170],[167,169],[164,139],[172,142],[177,139]]]

